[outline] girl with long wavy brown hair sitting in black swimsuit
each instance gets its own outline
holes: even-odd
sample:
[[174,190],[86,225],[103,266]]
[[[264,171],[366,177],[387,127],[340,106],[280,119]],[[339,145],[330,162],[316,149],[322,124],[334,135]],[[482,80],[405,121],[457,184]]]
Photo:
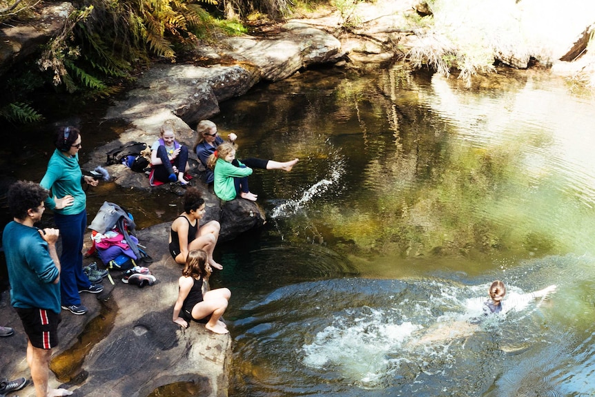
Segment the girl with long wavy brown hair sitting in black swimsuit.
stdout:
[[226,288],[208,290],[211,266],[206,252],[194,250],[188,253],[182,277],[178,280],[179,291],[173,307],[173,322],[187,328],[191,320],[204,324],[215,333],[228,333],[221,316],[227,309],[231,291]]

